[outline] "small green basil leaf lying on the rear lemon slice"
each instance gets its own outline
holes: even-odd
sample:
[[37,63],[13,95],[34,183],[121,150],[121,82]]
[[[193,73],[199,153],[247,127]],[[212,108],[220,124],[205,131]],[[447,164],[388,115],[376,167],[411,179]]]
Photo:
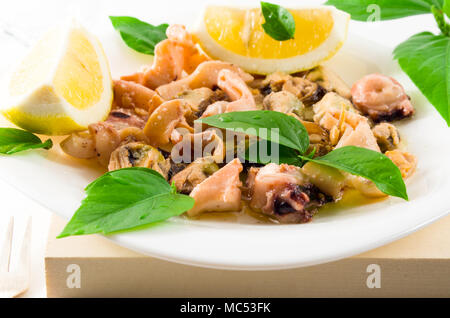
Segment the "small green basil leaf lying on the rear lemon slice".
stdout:
[[286,41],[294,38],[295,21],[292,14],[285,8],[261,1],[261,11],[265,23],[264,32],[277,41]]

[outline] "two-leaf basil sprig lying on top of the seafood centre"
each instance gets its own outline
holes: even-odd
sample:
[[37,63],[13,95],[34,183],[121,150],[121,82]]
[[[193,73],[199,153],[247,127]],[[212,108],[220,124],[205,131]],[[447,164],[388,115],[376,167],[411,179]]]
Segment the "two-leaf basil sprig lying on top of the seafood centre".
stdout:
[[[306,161],[333,167],[354,175],[362,176],[374,182],[380,191],[391,196],[408,200],[406,186],[399,168],[384,154],[365,148],[347,146],[335,149],[325,156],[313,158],[306,154],[309,136],[303,124],[292,116],[274,111],[247,111],[219,114],[198,120],[217,128],[234,132],[249,131],[249,135],[266,138],[261,128],[278,128],[277,140],[280,144],[279,163],[303,166]],[[248,130],[251,128],[251,130]],[[269,134],[270,136],[270,134]],[[259,152],[258,152],[259,154]],[[252,162],[267,164],[259,155],[248,157]]]

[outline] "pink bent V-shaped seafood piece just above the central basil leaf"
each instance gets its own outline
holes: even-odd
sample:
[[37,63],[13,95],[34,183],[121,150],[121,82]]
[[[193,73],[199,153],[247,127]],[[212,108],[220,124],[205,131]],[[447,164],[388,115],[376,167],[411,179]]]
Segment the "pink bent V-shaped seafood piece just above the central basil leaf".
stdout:
[[227,93],[232,102],[219,101],[211,104],[206,108],[202,117],[258,109],[247,84],[238,74],[228,69],[221,70],[218,74],[217,86]]

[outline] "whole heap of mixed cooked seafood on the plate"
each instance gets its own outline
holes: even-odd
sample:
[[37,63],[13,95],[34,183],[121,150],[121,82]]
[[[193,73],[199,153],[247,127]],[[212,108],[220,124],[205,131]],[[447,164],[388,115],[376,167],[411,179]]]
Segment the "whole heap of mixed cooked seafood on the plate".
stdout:
[[[387,194],[362,176],[314,160],[301,165],[225,160],[236,154],[236,145],[220,129],[205,123],[197,129],[195,123],[227,113],[282,113],[305,127],[312,159],[356,146],[387,156],[404,179],[414,173],[417,161],[395,126],[412,116],[414,107],[394,78],[369,74],[350,87],[324,65],[251,74],[207,55],[182,25],[170,25],[166,35],[155,46],[152,65],[113,81],[109,115],[68,136],[61,143],[65,153],[97,160],[109,171],[157,171],[195,200],[189,217],[239,213],[245,205],[279,223],[311,221],[346,189],[367,197]],[[185,160],[176,160],[180,149],[194,145],[200,151],[185,151]]]

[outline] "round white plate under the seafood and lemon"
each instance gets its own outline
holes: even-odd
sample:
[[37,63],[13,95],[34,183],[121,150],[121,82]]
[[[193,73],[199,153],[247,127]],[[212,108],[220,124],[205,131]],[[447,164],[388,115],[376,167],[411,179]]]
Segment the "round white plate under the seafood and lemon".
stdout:
[[[182,21],[184,22],[184,21]],[[135,71],[148,57],[132,53],[108,22],[100,39],[115,77]],[[142,253],[184,264],[222,269],[283,269],[329,262],[381,246],[450,211],[450,129],[392,61],[391,50],[349,35],[329,63],[348,83],[371,72],[397,78],[416,106],[413,120],[399,125],[416,174],[408,180],[410,201],[390,198],[333,213],[319,213],[301,225],[236,224],[173,218],[138,232],[109,236]],[[84,197],[83,188],[98,176],[95,168],[54,149],[0,156],[0,178],[69,219]],[[89,247],[86,247],[89,248]]]

